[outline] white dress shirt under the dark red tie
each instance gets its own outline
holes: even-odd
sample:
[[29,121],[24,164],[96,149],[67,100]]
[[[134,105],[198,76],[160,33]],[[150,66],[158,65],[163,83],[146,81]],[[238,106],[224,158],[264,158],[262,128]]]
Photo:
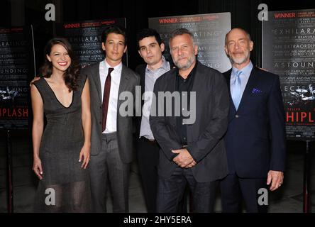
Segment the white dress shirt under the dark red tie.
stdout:
[[[99,77],[101,79],[101,101],[103,101],[104,87],[109,68],[112,68],[106,59],[99,64]],[[114,67],[111,72],[111,91],[109,92],[109,109],[107,111],[106,128],[103,133],[114,133],[117,131],[117,104],[119,84],[121,83],[121,70],[123,64]]]

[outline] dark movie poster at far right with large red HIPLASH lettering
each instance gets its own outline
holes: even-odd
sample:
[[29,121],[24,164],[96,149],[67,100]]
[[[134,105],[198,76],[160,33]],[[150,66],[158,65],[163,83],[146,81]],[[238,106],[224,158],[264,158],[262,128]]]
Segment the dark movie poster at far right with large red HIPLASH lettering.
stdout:
[[315,10],[273,11],[262,23],[262,67],[280,76],[287,138],[315,140]]

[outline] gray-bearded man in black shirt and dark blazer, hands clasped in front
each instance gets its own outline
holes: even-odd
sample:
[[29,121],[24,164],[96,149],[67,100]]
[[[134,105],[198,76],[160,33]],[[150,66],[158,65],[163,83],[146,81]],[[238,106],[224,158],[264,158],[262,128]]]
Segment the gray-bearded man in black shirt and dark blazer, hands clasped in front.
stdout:
[[194,211],[213,211],[219,179],[228,172],[222,140],[228,89],[220,72],[197,61],[197,50],[192,33],[175,30],[170,52],[177,68],[155,82],[150,126],[161,147],[157,212],[177,212],[187,182]]

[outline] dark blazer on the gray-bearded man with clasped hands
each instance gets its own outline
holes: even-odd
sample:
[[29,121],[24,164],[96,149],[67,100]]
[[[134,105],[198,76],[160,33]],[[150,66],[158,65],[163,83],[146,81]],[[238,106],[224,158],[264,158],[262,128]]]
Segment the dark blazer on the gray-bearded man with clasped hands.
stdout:
[[[187,125],[188,150],[197,165],[192,167],[197,182],[210,182],[228,173],[223,135],[228,126],[228,88],[223,75],[197,62],[192,92],[196,92],[196,120]],[[154,93],[175,92],[176,69],[155,82]],[[158,101],[157,101],[158,103]],[[158,113],[158,105],[155,106]],[[174,105],[172,106],[174,109]],[[182,148],[174,116],[150,116],[153,135],[161,147],[159,175],[170,177],[177,167],[171,150]],[[151,111],[152,114],[152,111]],[[164,109],[165,114],[165,109]]]

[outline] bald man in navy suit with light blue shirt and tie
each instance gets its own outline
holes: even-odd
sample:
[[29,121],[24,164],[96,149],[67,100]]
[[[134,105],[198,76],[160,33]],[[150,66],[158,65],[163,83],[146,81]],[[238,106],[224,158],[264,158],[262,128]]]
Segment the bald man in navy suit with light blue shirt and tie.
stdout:
[[[223,212],[240,212],[242,196],[248,212],[266,212],[261,189],[279,188],[285,165],[284,108],[279,77],[253,67],[253,41],[241,28],[226,34],[232,69],[224,73],[230,91],[225,136],[228,176],[221,182]],[[265,189],[267,192],[267,189]]]

